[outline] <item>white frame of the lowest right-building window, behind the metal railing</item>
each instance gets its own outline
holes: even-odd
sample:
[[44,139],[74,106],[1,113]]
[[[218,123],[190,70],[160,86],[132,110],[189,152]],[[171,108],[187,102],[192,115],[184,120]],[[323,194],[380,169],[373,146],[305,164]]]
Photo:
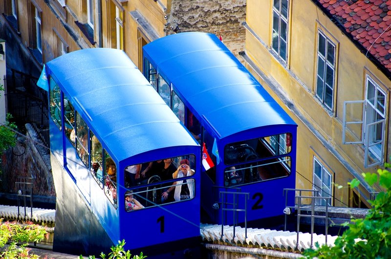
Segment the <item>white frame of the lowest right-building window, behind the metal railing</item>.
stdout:
[[[321,170],[321,172],[320,172],[321,175],[320,176],[321,177],[319,177],[315,173],[315,165],[316,165],[316,163],[320,167],[320,170]],[[317,190],[319,192],[319,196],[320,197],[327,197],[327,196],[329,196],[331,199],[327,199],[327,203],[328,203],[329,206],[331,206],[331,204],[333,203],[333,201],[332,201],[332,198],[333,198],[333,196],[332,196],[333,175],[332,175],[332,173],[328,172],[326,167],[320,162],[320,159],[316,158],[315,156],[313,158],[312,174],[313,174],[313,177],[312,177],[312,189],[313,190]],[[328,186],[326,186],[326,184],[324,183],[325,174],[327,174],[328,178],[330,179]],[[316,182],[315,178],[318,179],[318,182],[320,182],[321,186],[316,186],[315,187],[315,182]],[[323,190],[324,186],[326,186],[326,188],[328,188],[328,190],[330,192],[329,194],[326,194],[326,196],[324,194],[326,191]],[[321,206],[325,206],[326,205],[326,199],[315,199],[314,202],[315,202],[315,205],[321,205]]]

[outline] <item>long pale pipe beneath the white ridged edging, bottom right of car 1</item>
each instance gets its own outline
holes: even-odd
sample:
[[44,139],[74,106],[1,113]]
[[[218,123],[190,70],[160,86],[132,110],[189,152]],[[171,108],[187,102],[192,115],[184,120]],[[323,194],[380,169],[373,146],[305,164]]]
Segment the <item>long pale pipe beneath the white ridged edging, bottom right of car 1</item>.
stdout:
[[249,248],[249,247],[218,245],[218,244],[203,244],[203,246],[209,250],[218,250],[224,252],[250,254],[250,255],[262,255],[262,256],[270,256],[275,258],[299,259],[303,257],[301,254],[281,252],[281,251],[268,250],[262,248]]

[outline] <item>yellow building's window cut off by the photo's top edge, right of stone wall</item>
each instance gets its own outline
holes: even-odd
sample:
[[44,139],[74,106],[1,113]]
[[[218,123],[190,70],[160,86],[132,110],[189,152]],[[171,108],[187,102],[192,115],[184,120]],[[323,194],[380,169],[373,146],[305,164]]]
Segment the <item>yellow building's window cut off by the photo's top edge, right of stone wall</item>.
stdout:
[[287,61],[288,0],[273,0],[272,49]]

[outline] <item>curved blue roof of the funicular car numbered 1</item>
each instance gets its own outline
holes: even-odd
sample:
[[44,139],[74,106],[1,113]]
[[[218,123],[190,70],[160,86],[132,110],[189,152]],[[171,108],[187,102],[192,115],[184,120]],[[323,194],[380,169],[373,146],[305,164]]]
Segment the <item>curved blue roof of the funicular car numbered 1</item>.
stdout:
[[119,161],[166,147],[199,146],[122,50],[74,51],[48,62],[46,71]]

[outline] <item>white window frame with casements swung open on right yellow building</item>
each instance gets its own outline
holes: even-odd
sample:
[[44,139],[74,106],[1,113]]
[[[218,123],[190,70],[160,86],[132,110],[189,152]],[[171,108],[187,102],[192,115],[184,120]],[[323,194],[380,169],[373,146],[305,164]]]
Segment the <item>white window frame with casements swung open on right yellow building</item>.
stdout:
[[[371,92],[373,98],[369,96],[370,88],[373,89]],[[365,168],[381,165],[384,162],[387,99],[387,93],[367,75],[365,100],[344,102],[342,143],[364,145]],[[362,118],[347,120],[348,111],[351,109],[361,109]],[[361,131],[358,130],[359,128]],[[355,139],[347,141],[348,132]]]

